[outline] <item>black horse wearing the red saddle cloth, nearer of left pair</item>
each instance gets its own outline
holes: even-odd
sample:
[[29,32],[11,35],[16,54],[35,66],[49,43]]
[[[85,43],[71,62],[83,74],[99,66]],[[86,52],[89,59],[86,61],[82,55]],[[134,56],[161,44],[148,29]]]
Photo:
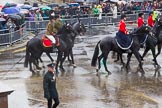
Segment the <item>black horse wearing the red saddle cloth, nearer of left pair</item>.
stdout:
[[[60,38],[60,46],[59,49],[65,49],[67,46],[65,44],[65,41],[70,40],[71,38],[69,38],[67,40],[67,38],[69,36],[67,36],[67,34],[70,34],[72,31],[72,27],[69,24],[64,24],[63,27],[59,30],[59,32],[57,33],[57,35]],[[43,52],[46,52],[46,54],[48,55],[49,53],[47,52],[51,52],[52,51],[52,47],[44,47],[43,43],[42,43],[42,36],[36,36],[34,38],[32,38],[30,41],[27,42],[26,45],[26,56],[25,56],[25,62],[24,62],[24,67],[28,66],[28,63],[30,65],[30,71],[34,72],[34,70],[32,69],[32,63],[36,66],[37,69],[40,69],[40,67],[37,64],[38,59],[40,59],[41,55]],[[70,45],[70,44],[69,44]],[[49,57],[51,57],[49,55]],[[52,59],[52,57],[51,57]]]

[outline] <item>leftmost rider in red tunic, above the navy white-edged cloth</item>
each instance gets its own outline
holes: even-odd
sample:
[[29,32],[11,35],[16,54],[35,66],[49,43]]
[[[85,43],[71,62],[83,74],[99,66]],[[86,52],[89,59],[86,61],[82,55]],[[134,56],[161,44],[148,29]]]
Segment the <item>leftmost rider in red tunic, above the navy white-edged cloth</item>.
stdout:
[[128,31],[126,29],[125,20],[126,20],[126,15],[121,16],[121,20],[119,22],[119,31],[127,35]]

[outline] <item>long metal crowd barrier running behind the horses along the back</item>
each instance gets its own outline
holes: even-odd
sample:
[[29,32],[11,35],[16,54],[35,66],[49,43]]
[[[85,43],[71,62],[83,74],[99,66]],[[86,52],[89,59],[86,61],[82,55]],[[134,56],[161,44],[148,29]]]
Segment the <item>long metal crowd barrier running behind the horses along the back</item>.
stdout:
[[[127,22],[134,22],[136,23],[138,18],[138,14],[128,14],[127,15]],[[148,13],[144,14],[145,21],[147,21]],[[110,25],[110,24],[117,24],[120,21],[120,15],[117,16],[117,19],[113,19],[113,16],[109,16],[108,14],[105,14],[102,16],[102,19],[99,19],[99,17],[94,17],[92,15],[89,15],[88,17],[81,17],[79,18],[81,22],[85,26],[100,26],[100,25]],[[71,16],[70,18],[62,19],[63,22],[68,23],[74,23],[78,20],[78,18]],[[44,21],[26,21],[26,30],[30,31],[40,31],[46,29],[48,25],[49,20]]]

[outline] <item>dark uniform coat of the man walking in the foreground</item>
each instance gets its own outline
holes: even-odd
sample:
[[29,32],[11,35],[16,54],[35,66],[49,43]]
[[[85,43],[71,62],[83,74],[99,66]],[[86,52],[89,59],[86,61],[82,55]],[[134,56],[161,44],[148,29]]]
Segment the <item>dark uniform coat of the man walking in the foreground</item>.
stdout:
[[53,77],[54,74],[48,71],[43,79],[44,97],[47,99],[58,97],[56,79]]

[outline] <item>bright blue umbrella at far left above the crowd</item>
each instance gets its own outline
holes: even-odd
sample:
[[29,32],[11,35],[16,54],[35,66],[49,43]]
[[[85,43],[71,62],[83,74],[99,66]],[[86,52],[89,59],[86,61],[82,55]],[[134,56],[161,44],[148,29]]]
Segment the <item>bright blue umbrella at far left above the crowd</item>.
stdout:
[[20,12],[20,9],[18,7],[8,7],[4,8],[2,12],[4,12],[5,14],[17,14]]

